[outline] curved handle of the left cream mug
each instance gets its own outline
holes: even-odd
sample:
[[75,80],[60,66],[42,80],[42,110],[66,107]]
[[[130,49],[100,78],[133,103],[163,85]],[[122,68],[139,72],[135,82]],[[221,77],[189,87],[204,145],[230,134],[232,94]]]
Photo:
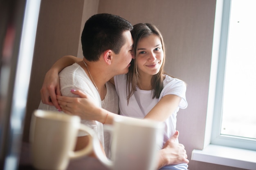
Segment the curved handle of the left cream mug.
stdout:
[[[71,151],[70,152],[70,159],[75,159],[75,158],[79,158],[79,157],[83,157],[83,156],[86,156],[90,153],[92,153],[92,150],[93,150],[93,145],[95,143],[99,143],[99,139],[97,138],[97,135],[95,134],[95,132],[89,128],[88,126],[86,125],[83,125],[83,124],[80,124],[80,128],[79,130],[82,130],[82,131],[85,131],[88,133],[88,136],[89,136],[89,143],[88,145],[81,149],[81,150],[78,150],[78,151]],[[96,140],[95,140],[96,139]]]

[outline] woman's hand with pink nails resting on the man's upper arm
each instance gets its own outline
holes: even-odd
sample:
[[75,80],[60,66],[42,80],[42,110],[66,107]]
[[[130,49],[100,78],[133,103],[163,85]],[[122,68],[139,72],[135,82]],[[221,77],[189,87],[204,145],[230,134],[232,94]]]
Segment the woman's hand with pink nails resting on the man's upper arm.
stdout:
[[57,95],[57,100],[61,110],[66,114],[80,116],[83,120],[98,120],[99,107],[94,105],[92,100],[80,90],[71,90],[73,94],[80,97],[67,97]]

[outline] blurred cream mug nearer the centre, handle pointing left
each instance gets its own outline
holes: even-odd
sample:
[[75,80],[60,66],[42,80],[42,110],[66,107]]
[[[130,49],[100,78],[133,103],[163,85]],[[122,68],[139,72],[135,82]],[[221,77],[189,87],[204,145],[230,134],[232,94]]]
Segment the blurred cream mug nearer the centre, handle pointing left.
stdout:
[[158,150],[163,141],[163,123],[145,119],[118,118],[111,131],[111,160],[94,145],[98,159],[113,170],[155,170]]

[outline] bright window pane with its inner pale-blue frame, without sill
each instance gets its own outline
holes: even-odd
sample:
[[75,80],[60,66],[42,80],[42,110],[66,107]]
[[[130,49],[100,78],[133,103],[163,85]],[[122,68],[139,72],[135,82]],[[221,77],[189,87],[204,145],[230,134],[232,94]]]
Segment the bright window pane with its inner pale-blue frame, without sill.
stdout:
[[212,144],[256,150],[255,8],[224,0]]

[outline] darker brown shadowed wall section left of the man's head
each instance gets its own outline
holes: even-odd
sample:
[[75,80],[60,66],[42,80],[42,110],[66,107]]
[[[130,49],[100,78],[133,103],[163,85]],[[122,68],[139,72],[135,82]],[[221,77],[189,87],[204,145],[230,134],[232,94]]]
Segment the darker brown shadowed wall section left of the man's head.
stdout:
[[40,103],[47,70],[64,55],[82,57],[80,30],[98,10],[97,0],[41,0],[34,58],[27,100],[24,141],[28,141],[31,113]]

